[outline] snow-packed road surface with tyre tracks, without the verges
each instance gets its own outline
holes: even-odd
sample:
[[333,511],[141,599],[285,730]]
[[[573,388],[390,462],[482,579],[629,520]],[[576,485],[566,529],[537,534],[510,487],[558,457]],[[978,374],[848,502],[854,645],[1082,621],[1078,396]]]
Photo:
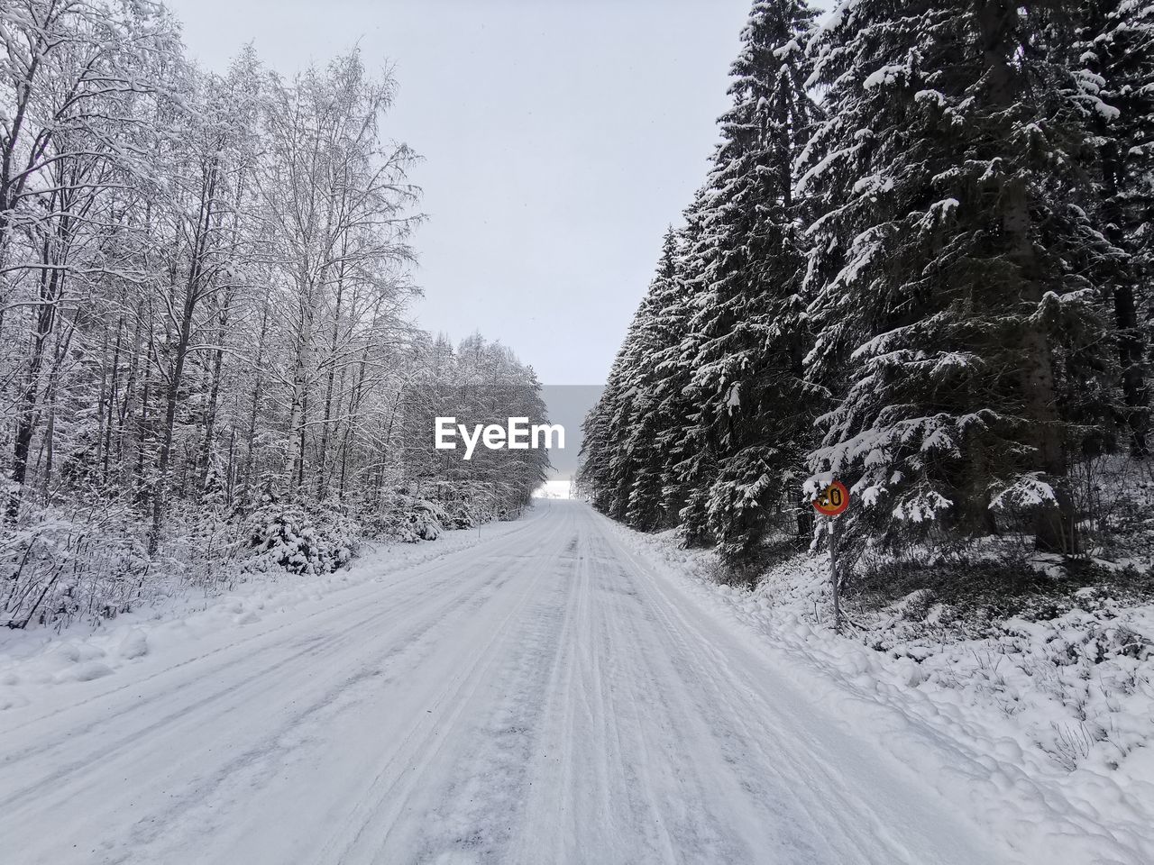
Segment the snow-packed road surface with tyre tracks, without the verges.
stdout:
[[0,715],[0,858],[992,865],[584,505]]

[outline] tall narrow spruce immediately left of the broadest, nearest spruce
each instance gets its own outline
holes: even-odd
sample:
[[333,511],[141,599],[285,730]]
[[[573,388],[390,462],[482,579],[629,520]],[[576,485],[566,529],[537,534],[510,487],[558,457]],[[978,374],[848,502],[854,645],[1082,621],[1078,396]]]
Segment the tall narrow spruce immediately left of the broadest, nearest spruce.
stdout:
[[705,517],[725,559],[748,559],[784,507],[796,512],[811,422],[802,386],[804,202],[794,161],[816,106],[803,0],[754,3],[730,75],[695,245],[690,337],[683,344],[699,436],[715,453]]

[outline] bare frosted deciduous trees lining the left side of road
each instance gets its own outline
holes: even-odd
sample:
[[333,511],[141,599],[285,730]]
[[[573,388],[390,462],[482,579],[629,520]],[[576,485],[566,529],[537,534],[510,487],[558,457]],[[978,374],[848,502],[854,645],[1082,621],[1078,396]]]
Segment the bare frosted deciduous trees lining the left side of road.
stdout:
[[0,46],[10,623],[114,612],[158,557],[261,541],[277,503],[407,535],[525,504],[542,454],[450,467],[414,420],[437,388],[439,412],[492,386],[542,411],[508,349],[405,321],[419,190],[391,77],[355,51],[210,74],[147,0],[10,0]]

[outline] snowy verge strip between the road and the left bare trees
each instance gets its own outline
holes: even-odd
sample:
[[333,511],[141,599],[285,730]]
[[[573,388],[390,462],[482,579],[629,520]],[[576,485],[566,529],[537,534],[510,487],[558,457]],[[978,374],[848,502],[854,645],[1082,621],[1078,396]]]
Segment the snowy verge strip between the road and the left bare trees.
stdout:
[[524,527],[524,521],[494,522],[480,529],[445,531],[429,543],[367,543],[358,558],[334,573],[247,573],[239,577],[245,581],[216,593],[171,580],[167,592],[159,592],[151,604],[95,625],[77,622],[59,631],[0,629],[0,710],[43,701],[60,685],[114,675],[126,664],[226,629],[283,618],[302,604],[322,602],[394,571]]

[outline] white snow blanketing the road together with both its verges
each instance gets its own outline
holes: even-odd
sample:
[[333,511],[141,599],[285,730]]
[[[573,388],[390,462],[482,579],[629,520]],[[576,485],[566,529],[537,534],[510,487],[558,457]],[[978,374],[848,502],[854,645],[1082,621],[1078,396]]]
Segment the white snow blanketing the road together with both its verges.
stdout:
[[584,504],[494,528],[6,638],[6,862],[1152,860],[1142,750],[1074,785],[914,662]]

